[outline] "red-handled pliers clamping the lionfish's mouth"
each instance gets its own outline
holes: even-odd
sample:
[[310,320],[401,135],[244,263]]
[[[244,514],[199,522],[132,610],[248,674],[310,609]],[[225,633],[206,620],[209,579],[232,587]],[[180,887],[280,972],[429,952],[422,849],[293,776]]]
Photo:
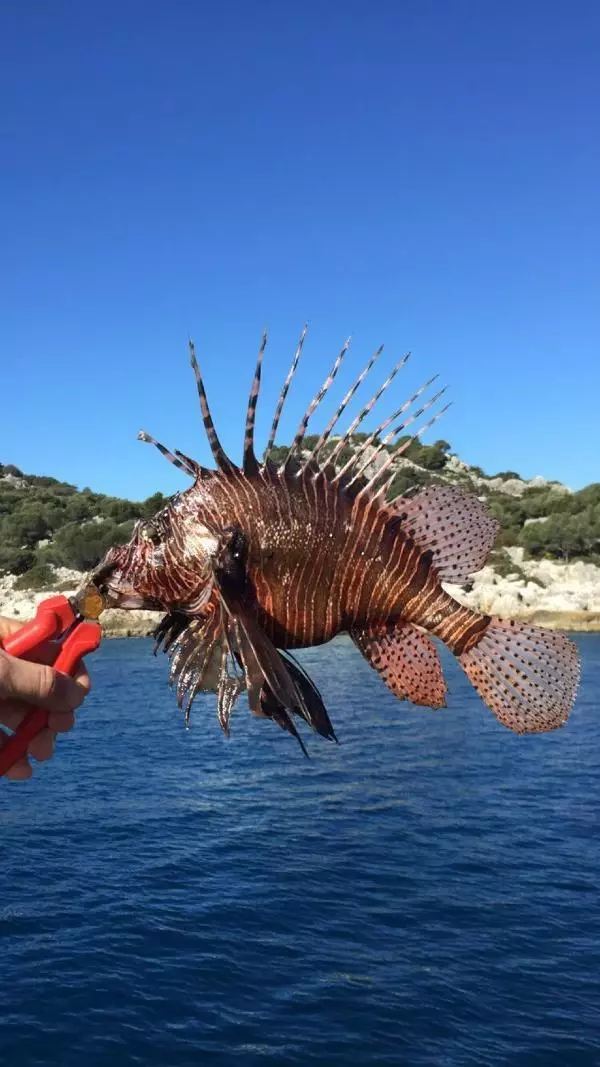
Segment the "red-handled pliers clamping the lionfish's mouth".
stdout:
[[[50,596],[38,605],[31,622],[0,641],[0,648],[11,656],[31,659],[41,644],[52,642],[56,655],[51,666],[63,674],[74,674],[82,656],[95,652],[100,643],[102,631],[97,620],[104,608],[105,600],[93,583],[83,586],[70,600]],[[0,749],[0,778],[25,755],[30,742],[47,726],[48,712],[41,707],[26,716]]]

